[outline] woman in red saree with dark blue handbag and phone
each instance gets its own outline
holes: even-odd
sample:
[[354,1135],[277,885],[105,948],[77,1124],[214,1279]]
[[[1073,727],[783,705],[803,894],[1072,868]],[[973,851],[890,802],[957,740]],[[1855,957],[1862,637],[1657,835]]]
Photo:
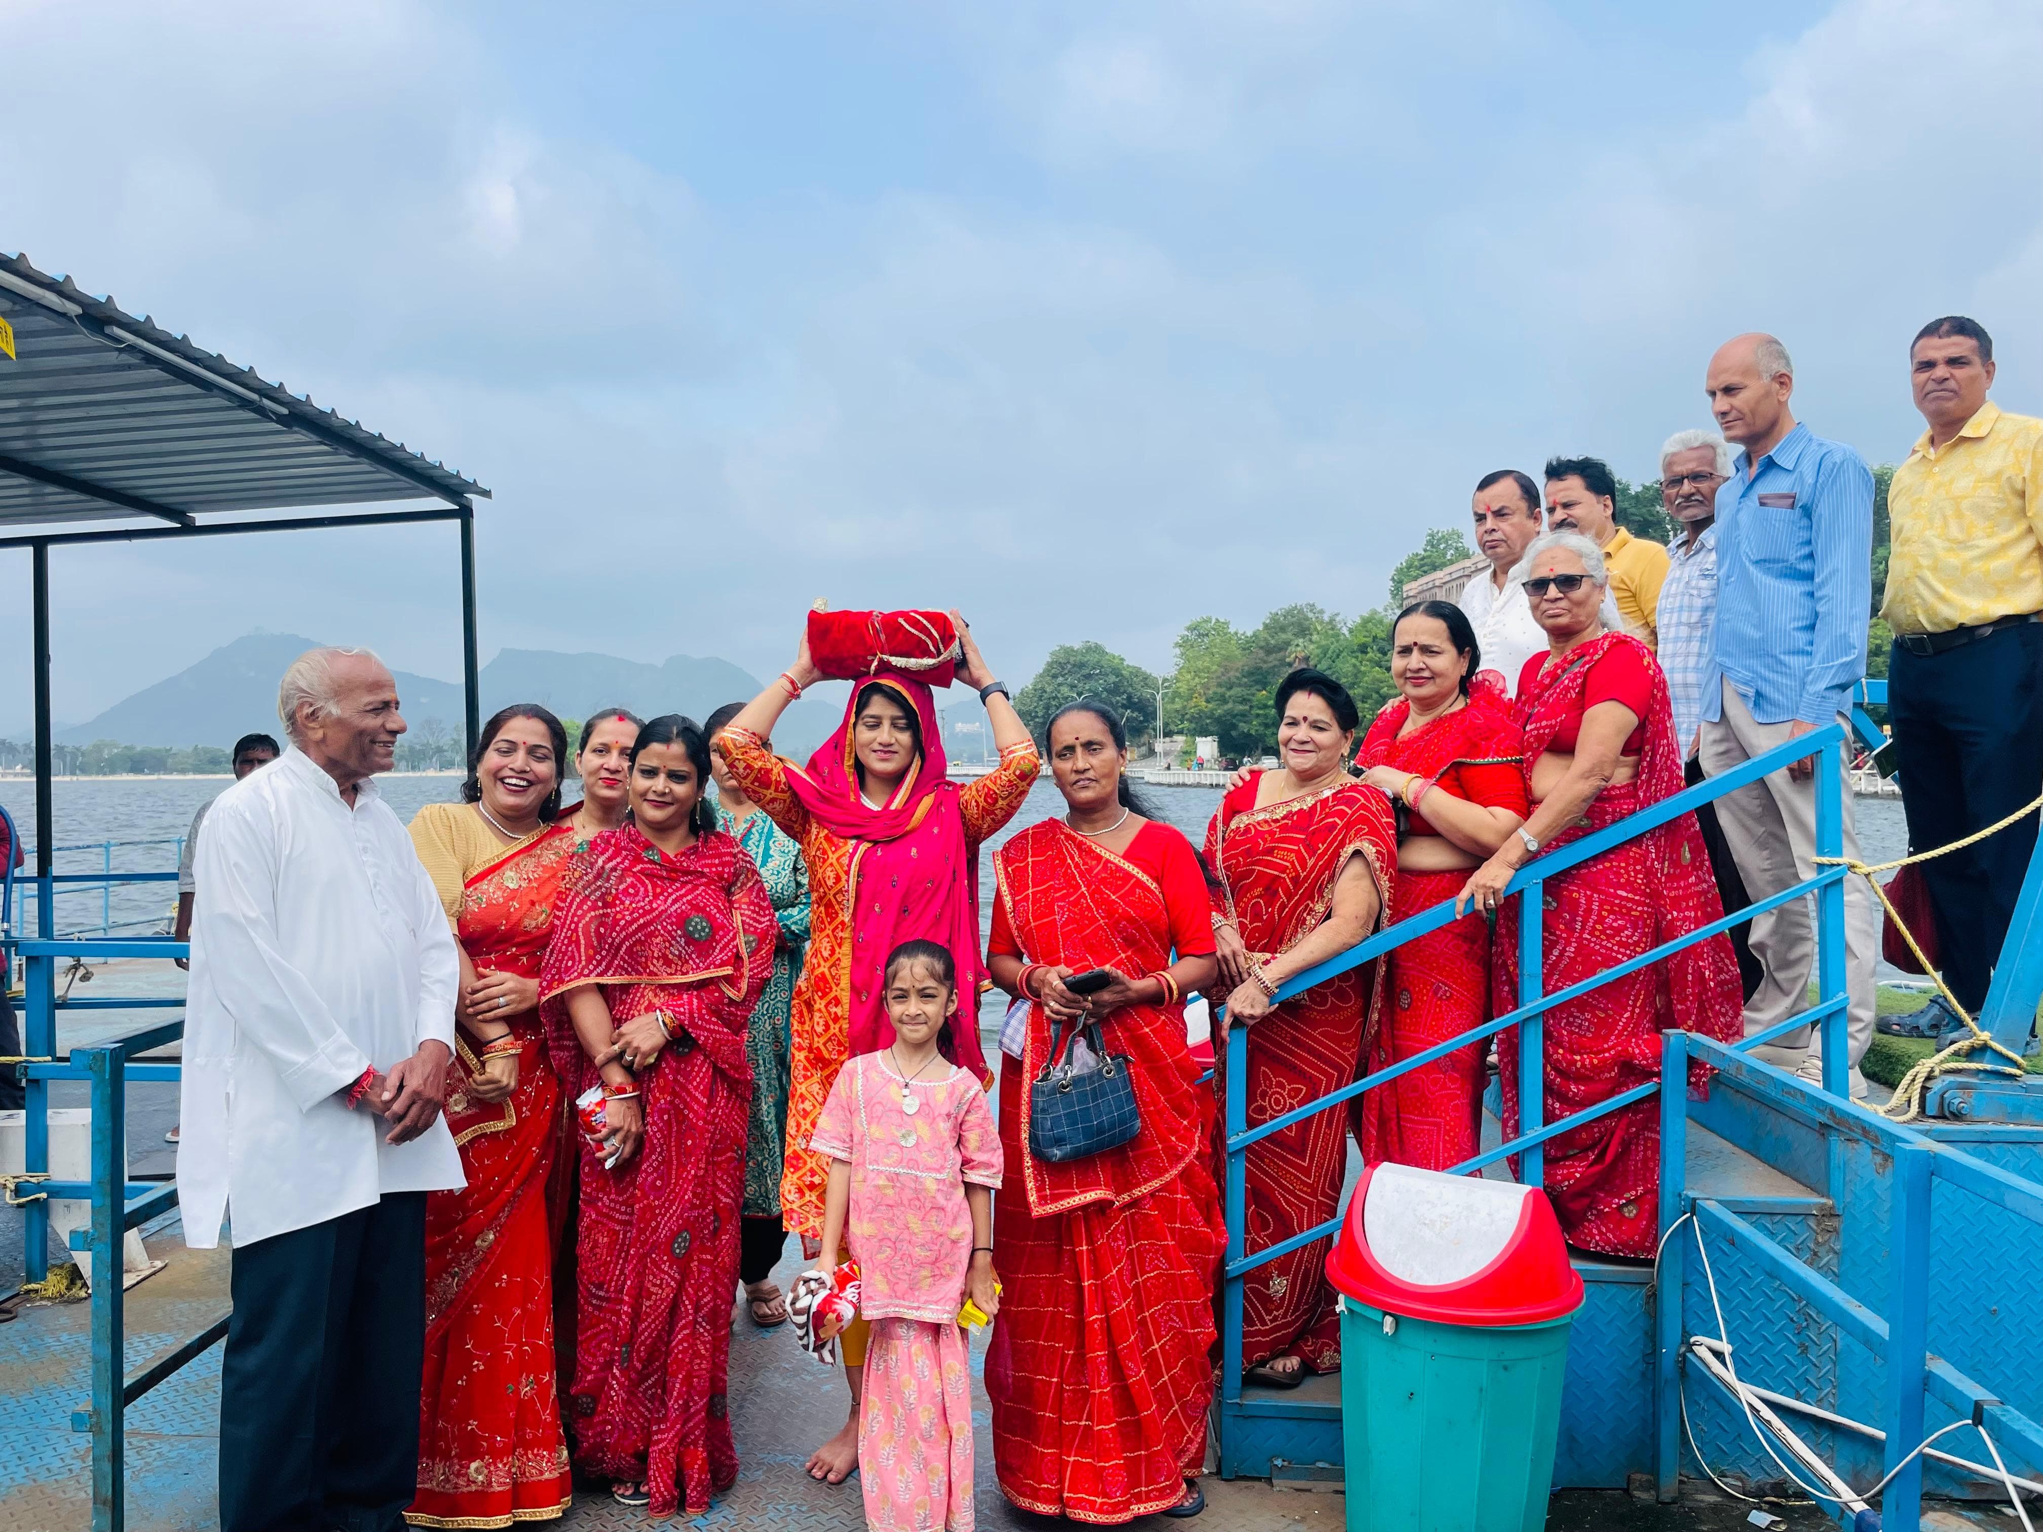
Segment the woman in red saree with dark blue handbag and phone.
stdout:
[[[1226,1248],[1205,1162],[1209,1099],[1185,1048],[1187,991],[1214,983],[1205,876],[1179,831],[1124,786],[1128,735],[1073,703],[1046,729],[1062,819],[993,858],[993,983],[1028,1001],[1001,1038],[993,1264],[1005,1291],[989,1385],[1001,1493],[1038,1516],[1120,1524],[1193,1516],[1214,1397],[1214,1281]],[[1109,968],[1077,997],[1064,978]],[[1028,1152],[1030,1089],[1052,1023],[1099,1019],[1126,1054],[1142,1130],[1050,1164]]]

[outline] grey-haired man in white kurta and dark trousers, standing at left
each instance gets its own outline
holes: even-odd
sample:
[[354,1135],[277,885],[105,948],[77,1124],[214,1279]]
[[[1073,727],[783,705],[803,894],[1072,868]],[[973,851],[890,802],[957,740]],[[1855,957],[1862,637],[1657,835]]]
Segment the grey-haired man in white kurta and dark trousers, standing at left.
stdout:
[[198,846],[184,1021],[186,1242],[233,1236],[223,1532],[390,1532],[419,1461],[425,1193],[462,1185],[439,1117],[460,958],[370,780],[405,731],[366,650],[298,658],[290,750]]

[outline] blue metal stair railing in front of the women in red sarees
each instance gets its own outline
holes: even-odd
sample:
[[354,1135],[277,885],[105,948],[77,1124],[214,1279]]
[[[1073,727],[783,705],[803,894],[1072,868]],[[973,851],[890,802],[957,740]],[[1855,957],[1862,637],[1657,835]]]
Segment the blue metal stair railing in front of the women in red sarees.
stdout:
[[[1248,1126],[1248,1099],[1246,1099],[1246,1066],[1248,1066],[1248,1030],[1230,1027],[1228,1032],[1228,1072],[1226,1072],[1226,1226],[1228,1226],[1228,1250],[1224,1262],[1224,1297],[1222,1297],[1222,1389],[1220,1389],[1220,1456],[1222,1473],[1232,1477],[1232,1454],[1228,1446],[1230,1424],[1238,1422],[1244,1414],[1242,1405],[1242,1283],[1250,1271],[1263,1266],[1279,1256],[1297,1250],[1301,1246],[1324,1240],[1326,1236],[1338,1232],[1342,1217],[1336,1213],[1324,1224],[1316,1224],[1310,1230],[1293,1234],[1287,1240],[1279,1240],[1254,1254],[1246,1252],[1244,1244],[1244,1213],[1246,1213],[1246,1154],[1248,1148],[1269,1138],[1283,1128],[1289,1128],[1305,1117],[1322,1111],[1332,1111],[1346,1101],[1359,1097],[1365,1091],[1373,1091],[1399,1074],[1408,1074],[1414,1068],[1442,1058],[1457,1048],[1467,1048],[1469,1044],[1481,1042],[1495,1032],[1516,1025],[1518,1027],[1518,1103],[1520,1103],[1520,1123],[1518,1136],[1493,1150],[1477,1154],[1455,1166],[1457,1172],[1481,1170],[1495,1160],[1506,1156],[1518,1156],[1518,1177],[1524,1185],[1538,1187],[1545,1185],[1545,1154],[1542,1146],[1557,1134],[1565,1134],[1571,1128],[1579,1128],[1585,1121],[1594,1121],[1612,1111],[1618,1111],[1636,1101],[1661,1091],[1659,1083],[1649,1083],[1622,1091],[1608,1101],[1600,1101],[1594,1107],[1577,1111],[1555,1123],[1542,1123],[1545,1109],[1545,1013],[1555,1005],[1565,1005],[1581,995],[1608,985],[1614,978],[1636,972],[1653,962],[1690,948],[1698,942],[1726,931],[1732,925],[1751,919],[1755,913],[1773,909],[1792,899],[1802,899],[1808,895],[1816,897],[1816,1003],[1806,1011],[1781,1021],[1763,1034],[1745,1038],[1737,1044],[1737,1052],[1743,1054],[1747,1048],[1757,1048],[1786,1032],[1816,1025],[1816,1036],[1820,1040],[1822,1058],[1822,1089],[1837,1097],[1849,1101],[1849,1038],[1843,1025],[1824,1025],[1833,1017],[1845,1013],[1849,1005],[1847,985],[1845,985],[1845,878],[1851,876],[1843,866],[1824,866],[1814,876],[1804,878],[1777,895],[1757,901],[1747,909],[1724,915],[1720,921],[1712,921],[1688,936],[1665,942],[1651,952],[1636,958],[1620,962],[1591,978],[1577,985],[1569,985],[1553,995],[1545,995],[1542,987],[1542,897],[1549,878],[1567,872],[1583,862],[1589,862],[1604,852],[1622,846],[1624,842],[1636,840],[1638,835],[1679,819],[1685,813],[1694,813],[1706,803],[1735,793],[1737,788],[1757,782],[1759,778],[1786,770],[1790,764],[1816,756],[1816,854],[1818,856],[1839,856],[1843,850],[1843,817],[1845,817],[1845,750],[1849,748],[1849,735],[1843,725],[1828,723],[1820,729],[1812,729],[1796,739],[1790,739],[1763,756],[1735,766],[1720,776],[1712,776],[1706,782],[1698,782],[1663,803],[1641,809],[1626,819],[1608,825],[1591,835],[1583,835],[1569,846],[1547,852],[1524,868],[1506,887],[1506,897],[1518,897],[1522,917],[1518,921],[1518,1009],[1508,1011],[1502,1017],[1485,1021],[1479,1027],[1471,1027],[1448,1042],[1436,1044],[1412,1058],[1399,1060],[1387,1068],[1346,1085],[1338,1091],[1308,1101],[1305,1105],[1271,1117],[1256,1128]],[[1412,915],[1410,919],[1397,921],[1385,931],[1348,948],[1346,952],[1328,958],[1326,962],[1308,968],[1305,972],[1285,980],[1277,989],[1277,999],[1285,1001],[1299,995],[1314,985],[1326,983],[1336,974],[1348,972],[1365,962],[1381,958],[1397,948],[1414,942],[1422,936],[1438,931],[1448,925],[1455,915],[1455,905],[1440,903],[1428,911]],[[1741,1060],[1743,1062],[1743,1060]],[[1673,1091],[1669,1095],[1685,1095],[1685,1091]],[[1663,1156],[1663,1164],[1679,1164],[1677,1158]],[[1831,1140],[1828,1154],[1828,1193],[1835,1197],[1843,1177],[1841,1146]],[[1663,1211],[1665,1215],[1665,1211]],[[1328,1405],[1318,1403],[1287,1403],[1279,1399],[1258,1399],[1254,1411],[1261,1416],[1285,1416],[1295,1414],[1299,1418],[1326,1416]]]

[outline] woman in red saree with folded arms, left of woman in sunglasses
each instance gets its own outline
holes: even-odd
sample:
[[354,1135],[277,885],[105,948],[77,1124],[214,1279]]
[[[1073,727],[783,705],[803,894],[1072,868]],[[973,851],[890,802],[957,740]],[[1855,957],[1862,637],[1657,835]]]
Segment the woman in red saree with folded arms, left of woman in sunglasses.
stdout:
[[[1422,601],[1397,613],[1391,680],[1401,692],[1377,713],[1355,764],[1399,807],[1397,901],[1391,919],[1461,893],[1526,817],[1518,723],[1487,676],[1461,607]],[[1383,1021],[1369,1050],[1375,1072],[1489,1019],[1489,925],[1463,915],[1385,958]],[[1399,1074],[1359,1103],[1363,1158],[1451,1170],[1481,1142],[1483,1056],[1471,1042]]]

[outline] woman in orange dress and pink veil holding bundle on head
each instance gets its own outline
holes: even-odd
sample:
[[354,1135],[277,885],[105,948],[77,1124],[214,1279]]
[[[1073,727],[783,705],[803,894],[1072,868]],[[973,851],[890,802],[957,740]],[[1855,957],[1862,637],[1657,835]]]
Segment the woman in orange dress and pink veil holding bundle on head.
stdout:
[[[780,1217],[805,1242],[821,1240],[829,1181],[829,1162],[809,1148],[809,1140],[844,1062],[878,1052],[893,1040],[883,964],[901,942],[936,942],[956,956],[960,1021],[950,1062],[981,1085],[991,1081],[979,1046],[985,968],[979,960],[977,858],[979,846],[1022,809],[1040,760],[1028,725],[987,668],[964,619],[948,613],[948,623],[954,639],[936,633],[934,643],[911,656],[893,650],[874,654],[866,664],[881,668],[870,674],[844,664],[846,654],[832,656],[840,676],[856,670],[858,678],[844,725],[809,758],[807,768],[774,756],[768,744],[787,705],[825,678],[811,660],[807,631],[795,664],[717,735],[717,748],[746,797],[795,837],[809,864],[809,956],[795,987],[787,1170],[780,1179]],[[819,627],[836,635],[840,623]],[[885,623],[881,641],[895,641]],[[952,641],[958,650],[954,662],[942,658]],[[905,674],[887,668],[887,658],[923,668]],[[1001,764],[975,782],[946,778],[930,682],[915,678],[944,678],[948,664],[987,705],[1001,752]],[[850,1420],[809,1458],[809,1475],[827,1483],[844,1483],[858,1467],[864,1342],[864,1324],[846,1330]]]

